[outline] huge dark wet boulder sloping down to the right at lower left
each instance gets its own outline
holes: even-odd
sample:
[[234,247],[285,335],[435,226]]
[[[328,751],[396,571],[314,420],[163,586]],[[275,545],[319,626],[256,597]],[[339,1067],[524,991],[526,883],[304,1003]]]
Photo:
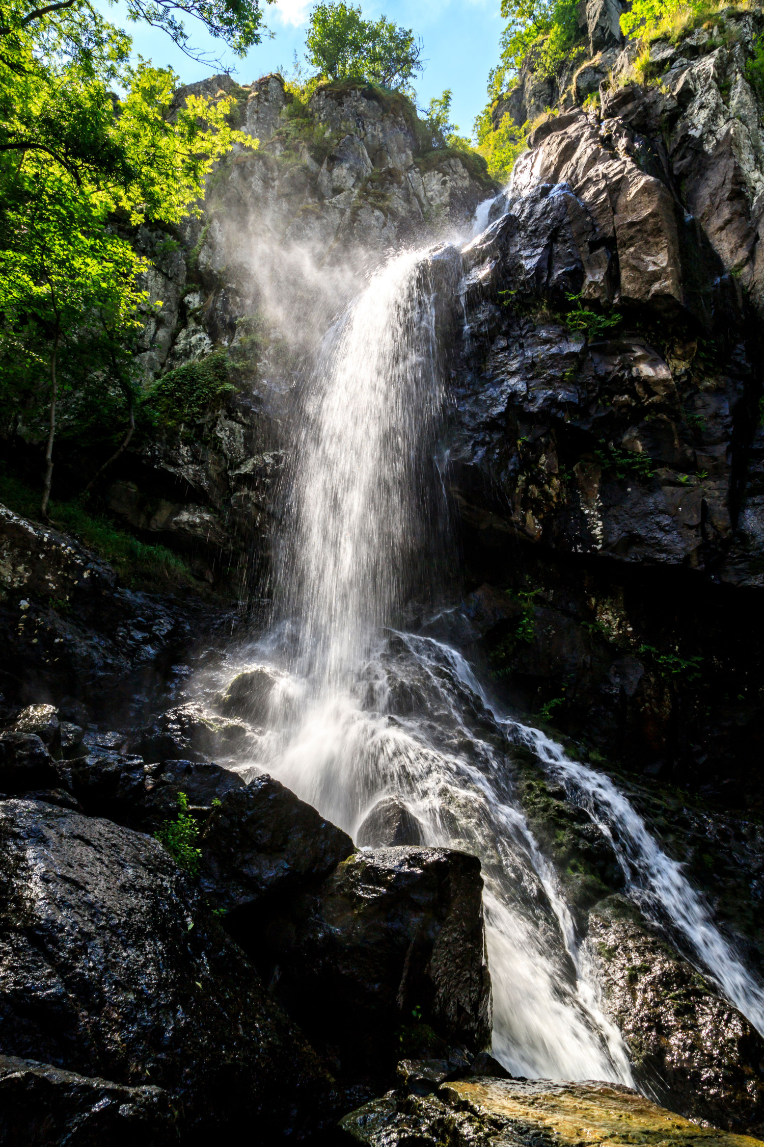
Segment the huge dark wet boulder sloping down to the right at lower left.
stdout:
[[320,1122],[328,1077],[157,841],[6,801],[0,879],[7,1055],[162,1087],[188,1144]]

